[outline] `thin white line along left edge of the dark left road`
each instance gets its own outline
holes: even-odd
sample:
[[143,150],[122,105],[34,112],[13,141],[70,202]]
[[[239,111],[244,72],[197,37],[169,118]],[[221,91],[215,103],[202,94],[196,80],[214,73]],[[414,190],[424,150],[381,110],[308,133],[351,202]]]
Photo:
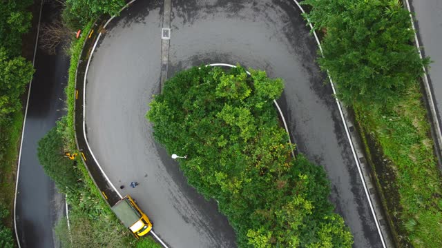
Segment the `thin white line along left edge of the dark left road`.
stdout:
[[[37,25],[37,37],[35,38],[35,46],[34,46],[34,57],[32,58],[32,67],[35,65],[35,56],[37,56],[37,45],[39,42],[39,34],[40,34],[40,23],[41,23],[41,10],[43,10],[43,2],[44,0],[41,0],[40,3],[40,13],[39,13],[39,23]],[[32,75],[33,76],[33,75]],[[29,97],[30,97],[30,89],[32,86],[32,79],[29,81],[29,87],[28,87],[28,99],[26,100],[26,109],[25,109],[25,116],[23,117],[23,127],[21,129],[21,141],[20,141],[20,151],[19,151],[19,161],[17,162],[17,178],[15,180],[15,196],[14,196],[14,229],[15,229],[15,238],[17,238],[17,245],[19,248],[21,248],[20,240],[19,240],[19,233],[17,232],[17,190],[19,189],[19,175],[20,175],[20,163],[21,163],[21,149],[23,148],[23,135],[25,133],[25,127],[26,127],[26,116],[28,115],[28,106],[29,106]]]

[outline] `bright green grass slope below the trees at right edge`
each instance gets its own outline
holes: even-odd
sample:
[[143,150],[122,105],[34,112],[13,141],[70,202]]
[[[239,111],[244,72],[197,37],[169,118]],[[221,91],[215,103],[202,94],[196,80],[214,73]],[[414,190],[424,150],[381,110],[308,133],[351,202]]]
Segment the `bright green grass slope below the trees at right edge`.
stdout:
[[376,109],[354,105],[398,245],[442,247],[442,178],[419,85]]

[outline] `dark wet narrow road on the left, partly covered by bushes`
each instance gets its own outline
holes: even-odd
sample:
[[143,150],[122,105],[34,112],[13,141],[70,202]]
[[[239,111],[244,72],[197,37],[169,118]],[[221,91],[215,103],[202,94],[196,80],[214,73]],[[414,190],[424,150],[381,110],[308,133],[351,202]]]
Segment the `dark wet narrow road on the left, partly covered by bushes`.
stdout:
[[[47,22],[53,12],[50,6],[44,6],[41,23]],[[37,50],[17,192],[17,231],[22,248],[54,247],[52,229],[60,212],[64,212],[64,196],[44,174],[37,158],[37,143],[64,114],[64,100],[60,99],[65,98],[68,66],[66,56]]]

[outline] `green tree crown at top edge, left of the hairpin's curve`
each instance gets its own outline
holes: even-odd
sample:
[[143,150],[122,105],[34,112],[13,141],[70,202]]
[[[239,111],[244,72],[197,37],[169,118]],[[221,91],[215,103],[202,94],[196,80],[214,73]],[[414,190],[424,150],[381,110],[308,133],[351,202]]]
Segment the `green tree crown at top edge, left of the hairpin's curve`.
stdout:
[[102,14],[117,15],[124,0],[66,0],[62,17],[69,28],[82,28]]

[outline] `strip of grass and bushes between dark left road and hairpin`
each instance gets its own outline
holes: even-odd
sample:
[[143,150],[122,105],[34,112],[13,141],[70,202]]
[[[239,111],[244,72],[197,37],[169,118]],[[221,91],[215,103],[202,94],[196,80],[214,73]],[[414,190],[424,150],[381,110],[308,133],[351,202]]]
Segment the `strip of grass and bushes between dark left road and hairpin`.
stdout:
[[[77,9],[80,3],[92,6],[94,10],[99,6],[102,10],[86,17]],[[120,10],[120,6],[124,6],[124,1],[98,4],[97,1],[66,0],[64,6],[61,14],[64,25],[58,28],[70,28],[71,34],[77,31],[77,28],[81,28],[82,34],[79,39],[72,38],[73,41],[68,49],[70,68],[65,89],[67,114],[39,141],[37,152],[44,171],[55,181],[59,192],[66,194],[69,204],[70,228],[66,218],[62,218],[55,226],[55,234],[61,242],[61,247],[160,248],[161,246],[150,236],[136,240],[131,231],[119,222],[90,178],[80,156],[76,156],[74,160],[64,157],[65,152],[80,154],[75,145],[75,76],[83,45],[91,32],[93,19],[100,14],[115,14],[107,11]],[[81,11],[88,9],[83,8]]]

